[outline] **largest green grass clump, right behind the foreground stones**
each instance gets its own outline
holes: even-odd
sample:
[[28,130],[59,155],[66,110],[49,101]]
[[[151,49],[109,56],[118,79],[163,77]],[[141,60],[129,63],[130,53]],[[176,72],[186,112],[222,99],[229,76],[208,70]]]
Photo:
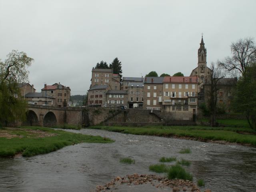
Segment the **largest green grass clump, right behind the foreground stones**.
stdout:
[[171,166],[168,170],[168,179],[183,179],[183,180],[193,180],[193,176],[186,172],[186,170],[180,165]]

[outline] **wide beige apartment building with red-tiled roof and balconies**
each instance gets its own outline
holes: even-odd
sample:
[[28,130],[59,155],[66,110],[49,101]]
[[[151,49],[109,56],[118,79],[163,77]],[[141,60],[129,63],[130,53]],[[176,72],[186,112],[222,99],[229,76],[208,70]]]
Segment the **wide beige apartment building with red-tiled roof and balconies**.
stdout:
[[163,111],[174,112],[176,120],[192,120],[197,114],[198,77],[164,77]]

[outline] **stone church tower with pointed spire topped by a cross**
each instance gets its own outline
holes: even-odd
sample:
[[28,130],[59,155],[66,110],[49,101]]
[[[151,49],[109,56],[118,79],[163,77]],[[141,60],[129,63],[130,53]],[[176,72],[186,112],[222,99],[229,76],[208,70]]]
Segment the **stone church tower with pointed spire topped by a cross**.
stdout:
[[192,70],[190,76],[198,76],[199,88],[204,85],[205,79],[211,74],[211,69],[207,67],[206,62],[206,48],[204,47],[203,36],[200,43],[200,48],[198,49],[198,64],[197,67]]

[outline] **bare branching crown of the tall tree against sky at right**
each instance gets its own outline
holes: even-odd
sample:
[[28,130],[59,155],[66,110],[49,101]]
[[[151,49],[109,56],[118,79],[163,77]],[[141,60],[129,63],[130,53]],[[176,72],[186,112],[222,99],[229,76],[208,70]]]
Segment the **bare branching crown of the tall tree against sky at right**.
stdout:
[[246,68],[256,62],[256,46],[252,38],[239,39],[230,46],[231,57],[219,61],[218,65],[230,72],[244,74]]

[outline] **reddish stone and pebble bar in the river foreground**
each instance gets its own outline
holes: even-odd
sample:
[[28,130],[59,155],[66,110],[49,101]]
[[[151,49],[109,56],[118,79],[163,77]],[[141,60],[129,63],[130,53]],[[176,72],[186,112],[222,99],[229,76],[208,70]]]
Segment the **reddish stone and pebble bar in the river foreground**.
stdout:
[[[166,191],[169,188],[170,192],[200,192],[200,189],[189,180],[168,180],[162,176],[136,173],[125,177],[117,176],[104,186],[97,186],[94,192],[126,191],[131,186],[133,187],[132,191],[141,191],[141,185],[145,185],[143,188],[145,191]],[[207,189],[204,192],[211,192],[211,190]]]

